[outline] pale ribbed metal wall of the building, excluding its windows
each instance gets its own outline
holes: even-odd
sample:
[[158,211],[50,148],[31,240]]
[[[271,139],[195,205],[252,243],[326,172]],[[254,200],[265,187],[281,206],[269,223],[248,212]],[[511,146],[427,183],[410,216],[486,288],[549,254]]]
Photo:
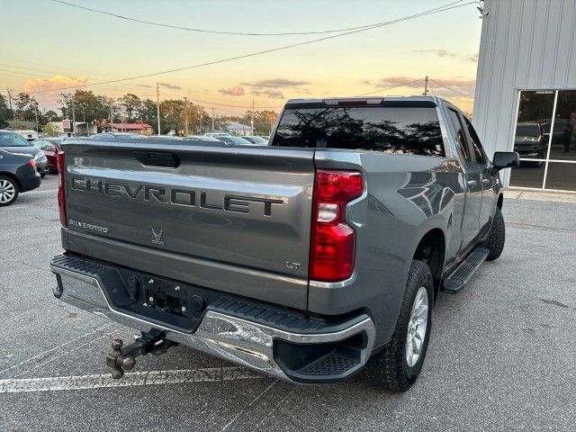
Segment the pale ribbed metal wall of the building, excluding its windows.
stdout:
[[576,89],[576,1],[484,6],[473,124],[491,155],[513,148],[518,90]]

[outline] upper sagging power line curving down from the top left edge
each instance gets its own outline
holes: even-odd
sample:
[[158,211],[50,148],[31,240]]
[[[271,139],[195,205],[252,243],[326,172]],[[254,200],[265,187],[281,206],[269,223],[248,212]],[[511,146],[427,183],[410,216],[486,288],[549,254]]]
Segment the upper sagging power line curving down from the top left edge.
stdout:
[[[430,11],[441,9],[441,8],[444,8],[444,7],[452,5],[452,4],[462,3],[463,1],[464,0],[458,0],[456,2],[445,4],[444,6],[438,6],[435,9],[431,9]],[[174,25],[174,24],[157,23],[157,22],[153,22],[153,21],[141,20],[139,18],[124,16],[124,15],[120,15],[120,14],[113,14],[112,12],[107,12],[107,11],[103,11],[100,9],[93,9],[91,7],[81,6],[80,4],[68,3],[68,2],[65,2],[62,0],[52,0],[52,2],[58,3],[58,4],[65,4],[67,6],[76,7],[78,9],[82,9],[82,10],[89,11],[89,12],[94,12],[95,14],[103,14],[103,15],[112,16],[114,18],[119,18],[121,20],[132,21],[134,23],[154,25],[156,27],[166,27],[166,28],[175,29],[175,30],[193,31],[193,32],[197,32],[197,33],[228,34],[228,35],[234,35],[234,36],[295,36],[295,35],[308,35],[308,34],[327,34],[327,33],[339,33],[342,31],[354,31],[354,30],[360,30],[360,29],[369,29],[369,28],[377,27],[377,26],[380,26],[383,24],[383,23],[371,23],[371,24],[365,24],[365,25],[360,25],[360,26],[356,26],[356,27],[347,27],[344,29],[332,29],[332,30],[322,30],[322,31],[283,31],[283,32],[277,32],[277,33],[245,32],[245,31],[218,31],[218,30],[194,29],[194,28],[184,27],[184,26],[179,26],[179,25]]]

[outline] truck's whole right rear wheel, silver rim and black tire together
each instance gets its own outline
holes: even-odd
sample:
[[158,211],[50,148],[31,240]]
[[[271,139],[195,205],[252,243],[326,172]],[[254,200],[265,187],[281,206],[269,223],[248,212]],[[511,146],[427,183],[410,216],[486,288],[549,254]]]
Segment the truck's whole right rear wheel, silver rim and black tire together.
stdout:
[[416,381],[428,349],[433,298],[429,267],[421,261],[412,261],[392,339],[366,366],[372,382],[390,392],[406,392]]

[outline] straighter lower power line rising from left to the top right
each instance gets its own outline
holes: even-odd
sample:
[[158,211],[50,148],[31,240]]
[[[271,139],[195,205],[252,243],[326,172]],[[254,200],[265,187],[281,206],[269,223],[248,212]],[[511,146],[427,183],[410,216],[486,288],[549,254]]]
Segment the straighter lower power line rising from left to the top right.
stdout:
[[[450,5],[450,4],[454,4],[454,3],[449,3],[449,4],[446,4],[446,5]],[[280,50],[284,50],[284,49],[291,49],[291,48],[295,48],[295,47],[301,47],[301,46],[303,46],[303,45],[309,45],[309,44],[311,44],[311,43],[320,42],[320,41],[322,41],[322,40],[331,40],[331,39],[339,38],[339,37],[342,37],[342,36],[347,36],[347,35],[349,35],[349,34],[359,33],[359,32],[361,32],[361,31],[368,31],[368,30],[372,30],[372,29],[375,29],[375,28],[378,28],[378,27],[383,27],[383,26],[385,26],[385,25],[391,25],[391,24],[393,24],[393,23],[401,23],[401,22],[404,22],[404,21],[409,21],[409,20],[412,20],[412,19],[415,19],[415,18],[419,18],[419,17],[421,17],[421,16],[429,15],[429,14],[437,14],[437,13],[440,13],[440,12],[446,12],[446,11],[449,11],[449,10],[451,10],[451,9],[455,9],[455,8],[458,8],[458,7],[463,7],[463,6],[468,5],[468,4],[475,4],[475,2],[468,2],[468,3],[465,3],[465,4],[456,4],[456,5],[452,5],[452,6],[450,6],[450,7],[446,7],[446,5],[445,5],[445,6],[441,6],[441,7],[444,7],[444,8],[430,9],[430,10],[428,10],[428,11],[424,11],[424,12],[421,12],[421,13],[419,13],[419,14],[408,15],[408,16],[405,16],[405,17],[402,17],[402,18],[398,18],[398,19],[395,19],[395,20],[386,22],[386,23],[380,23],[380,24],[377,24],[377,25],[374,25],[374,26],[368,27],[368,28],[363,28],[363,29],[355,30],[355,31],[346,31],[346,32],[344,32],[344,33],[338,33],[338,34],[335,34],[335,35],[326,36],[326,37],[319,38],[319,39],[306,40],[306,41],[304,41],[304,42],[293,43],[293,44],[290,44],[290,45],[284,45],[284,46],[282,46],[282,47],[277,47],[277,48],[272,48],[272,49],[264,49],[264,50],[257,51],[257,52],[251,52],[251,53],[249,53],[249,54],[243,54],[243,55],[241,55],[241,56],[235,56],[235,57],[229,57],[229,58],[221,58],[221,59],[219,59],[219,60],[212,60],[212,61],[208,61],[208,62],[205,62],[205,63],[200,63],[200,64],[197,64],[197,65],[193,65],[193,66],[176,67],[176,68],[164,70],[164,71],[161,71],[161,72],[155,72],[155,73],[151,73],[151,74],[143,74],[143,75],[139,75],[139,76],[129,76],[129,77],[126,77],[126,78],[112,79],[112,80],[109,80],[109,81],[101,81],[101,82],[93,83],[93,84],[71,85],[71,86],[67,86],[67,87],[61,87],[61,88],[57,88],[57,89],[52,89],[52,90],[49,90],[49,91],[35,92],[35,94],[49,93],[49,92],[59,91],[59,90],[68,90],[68,89],[71,89],[71,88],[79,88],[79,87],[84,87],[84,86],[87,86],[87,85],[104,85],[104,84],[112,84],[112,83],[121,83],[121,82],[123,82],[123,81],[130,81],[130,80],[132,80],[132,79],[147,78],[147,77],[150,77],[150,76],[160,76],[160,75],[170,74],[170,73],[174,73],[174,72],[180,72],[180,71],[183,71],[183,70],[194,69],[194,68],[198,68],[198,67],[205,67],[205,66],[211,66],[211,65],[216,65],[216,64],[220,64],[220,63],[226,63],[226,62],[233,61],[233,60],[238,60],[238,59],[241,59],[241,58],[255,57],[255,56],[259,56],[259,55],[262,55],[262,54],[267,54],[267,53],[270,53],[270,52],[280,51]]]

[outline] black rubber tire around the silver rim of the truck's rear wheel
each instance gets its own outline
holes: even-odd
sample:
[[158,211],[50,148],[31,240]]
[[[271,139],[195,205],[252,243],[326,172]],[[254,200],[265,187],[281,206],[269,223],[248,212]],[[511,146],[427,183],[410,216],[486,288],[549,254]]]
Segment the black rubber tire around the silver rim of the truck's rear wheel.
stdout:
[[[428,293],[428,324],[422,341],[418,360],[414,365],[409,365],[407,360],[407,337],[409,332],[410,314],[412,305],[421,287],[426,288]],[[434,299],[434,283],[430,268],[422,261],[412,261],[410,274],[404,300],[402,301],[400,316],[396,323],[396,329],[392,339],[380,351],[374,355],[366,365],[366,373],[372,383],[377,384],[389,392],[406,392],[416,382],[428,349],[428,339],[432,327],[432,305]]]

